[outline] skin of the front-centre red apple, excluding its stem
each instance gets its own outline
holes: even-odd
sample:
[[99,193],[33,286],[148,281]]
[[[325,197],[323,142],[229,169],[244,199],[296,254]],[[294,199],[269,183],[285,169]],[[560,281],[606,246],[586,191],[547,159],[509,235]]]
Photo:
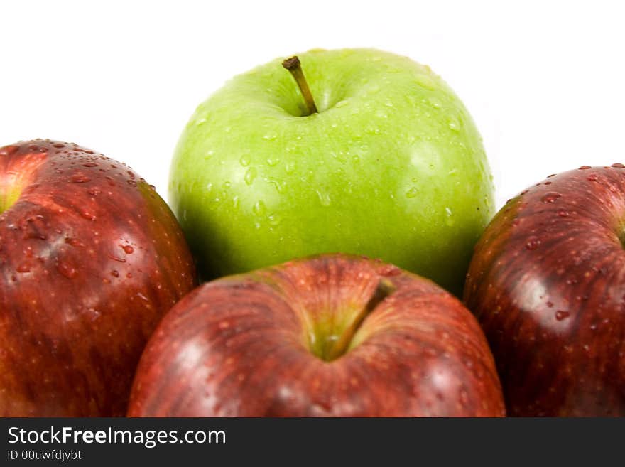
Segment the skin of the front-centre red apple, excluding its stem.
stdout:
[[[334,360],[313,349],[344,337]],[[226,277],[159,324],[134,380],[131,417],[502,416],[474,316],[432,281],[327,254]]]

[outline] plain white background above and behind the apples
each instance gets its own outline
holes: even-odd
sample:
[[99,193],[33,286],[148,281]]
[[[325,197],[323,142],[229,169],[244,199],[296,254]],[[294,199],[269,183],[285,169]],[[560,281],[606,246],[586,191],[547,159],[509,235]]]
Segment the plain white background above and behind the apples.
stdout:
[[501,206],[549,173],[625,162],[618,3],[0,0],[0,146],[75,141],[166,198],[180,131],[229,77],[309,48],[376,47],[460,95]]

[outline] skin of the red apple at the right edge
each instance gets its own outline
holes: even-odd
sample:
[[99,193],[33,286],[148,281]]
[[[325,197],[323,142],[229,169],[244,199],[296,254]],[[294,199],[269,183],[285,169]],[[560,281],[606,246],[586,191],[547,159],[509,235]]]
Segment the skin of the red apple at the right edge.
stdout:
[[625,168],[551,176],[496,215],[464,300],[513,416],[625,415]]

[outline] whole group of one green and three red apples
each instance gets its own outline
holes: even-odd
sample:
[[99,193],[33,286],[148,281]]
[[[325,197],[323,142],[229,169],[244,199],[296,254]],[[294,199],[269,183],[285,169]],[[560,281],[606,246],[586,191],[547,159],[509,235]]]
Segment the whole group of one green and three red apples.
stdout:
[[371,49],[214,93],[173,212],[97,152],[4,146],[0,415],[625,415],[625,166],[496,215],[491,180],[445,82]]

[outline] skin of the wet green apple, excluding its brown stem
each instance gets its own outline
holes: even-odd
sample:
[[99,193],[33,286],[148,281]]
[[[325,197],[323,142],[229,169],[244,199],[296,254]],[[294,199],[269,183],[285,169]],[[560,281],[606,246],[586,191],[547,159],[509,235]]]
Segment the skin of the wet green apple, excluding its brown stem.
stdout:
[[363,254],[460,294],[494,215],[482,139],[429,67],[374,49],[239,75],[183,131],[170,203],[205,279],[324,252]]

